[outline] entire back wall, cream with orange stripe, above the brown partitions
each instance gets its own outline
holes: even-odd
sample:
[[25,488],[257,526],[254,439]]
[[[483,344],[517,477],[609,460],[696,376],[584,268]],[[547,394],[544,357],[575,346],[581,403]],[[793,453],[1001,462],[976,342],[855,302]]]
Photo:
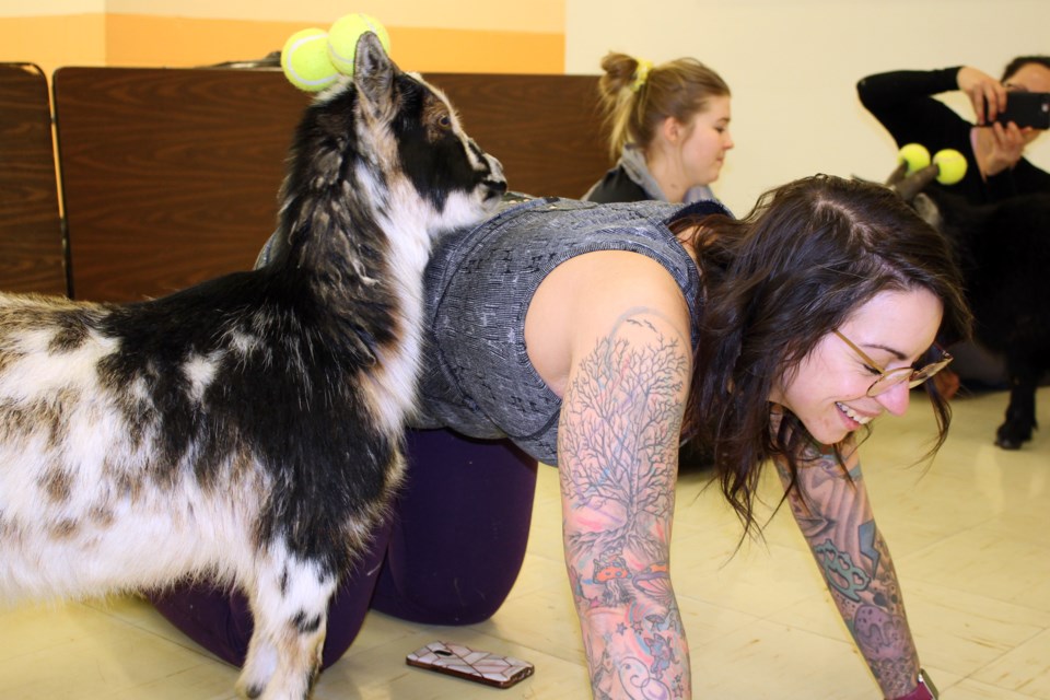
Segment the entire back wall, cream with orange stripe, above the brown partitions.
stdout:
[[[50,72],[256,58],[348,8],[382,19],[411,70],[596,73],[609,49],[700,58],[733,90],[737,148],[715,190],[740,214],[795,177],[891,170],[891,139],[856,101],[861,77],[964,63],[999,73],[1015,55],[1050,54],[1047,0],[0,0],[0,60]],[[969,116],[958,95],[948,102]],[[1050,137],[1030,153],[1050,170]]]

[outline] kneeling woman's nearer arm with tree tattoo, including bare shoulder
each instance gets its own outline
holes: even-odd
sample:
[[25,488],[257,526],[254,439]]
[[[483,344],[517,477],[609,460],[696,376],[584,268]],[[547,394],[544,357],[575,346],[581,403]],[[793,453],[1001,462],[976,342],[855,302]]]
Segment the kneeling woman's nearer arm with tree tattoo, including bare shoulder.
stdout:
[[[689,652],[668,565],[691,357],[687,311],[654,262],[634,254],[582,257],[602,265],[558,268],[555,275],[572,273],[540,290],[558,290],[548,298],[556,304],[545,305],[537,293],[547,348],[551,337],[564,341],[548,355],[557,361],[545,363],[544,348],[533,343],[529,352],[563,397],[558,468],[565,564],[592,690],[602,699],[689,698]],[[576,311],[565,300],[580,299],[579,292],[559,287],[567,278],[596,290],[582,295]],[[551,365],[563,369],[563,385]]]

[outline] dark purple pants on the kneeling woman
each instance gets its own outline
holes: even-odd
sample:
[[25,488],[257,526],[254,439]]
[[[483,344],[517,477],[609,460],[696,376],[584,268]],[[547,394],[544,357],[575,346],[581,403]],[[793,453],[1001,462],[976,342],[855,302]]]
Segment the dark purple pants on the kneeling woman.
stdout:
[[[324,666],[350,646],[369,608],[413,622],[471,625],[492,616],[528,541],[536,460],[509,441],[411,431],[393,517],[332,597]],[[195,642],[241,666],[252,612],[240,592],[183,584],[151,596]]]

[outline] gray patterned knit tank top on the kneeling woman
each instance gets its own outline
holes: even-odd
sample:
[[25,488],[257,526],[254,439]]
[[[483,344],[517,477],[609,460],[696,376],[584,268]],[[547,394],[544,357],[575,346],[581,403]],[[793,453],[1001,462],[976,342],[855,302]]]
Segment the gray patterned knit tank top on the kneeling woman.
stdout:
[[[427,268],[415,427],[510,438],[536,459],[557,465],[561,399],[533,369],[525,348],[533,294],[574,256],[630,250],[667,268],[696,318],[699,273],[666,225],[688,213],[728,212],[713,201],[684,207],[509,197],[481,225],[442,236]],[[696,324],[692,334],[696,343]]]

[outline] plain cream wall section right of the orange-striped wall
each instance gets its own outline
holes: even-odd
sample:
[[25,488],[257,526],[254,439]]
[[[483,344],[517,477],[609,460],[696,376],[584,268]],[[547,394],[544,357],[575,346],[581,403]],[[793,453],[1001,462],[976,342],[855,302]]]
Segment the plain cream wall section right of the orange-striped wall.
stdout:
[[[655,5],[654,5],[655,7]],[[971,65],[999,75],[1050,54],[1047,0],[568,0],[565,68],[594,73],[609,49],[696,56],[733,91],[730,153],[714,188],[744,214],[765,189],[817,172],[883,179],[896,145],[856,100],[867,74]],[[628,19],[625,21],[625,19]],[[972,118],[958,94],[949,103]],[[1050,170],[1050,136],[1030,150]]]

